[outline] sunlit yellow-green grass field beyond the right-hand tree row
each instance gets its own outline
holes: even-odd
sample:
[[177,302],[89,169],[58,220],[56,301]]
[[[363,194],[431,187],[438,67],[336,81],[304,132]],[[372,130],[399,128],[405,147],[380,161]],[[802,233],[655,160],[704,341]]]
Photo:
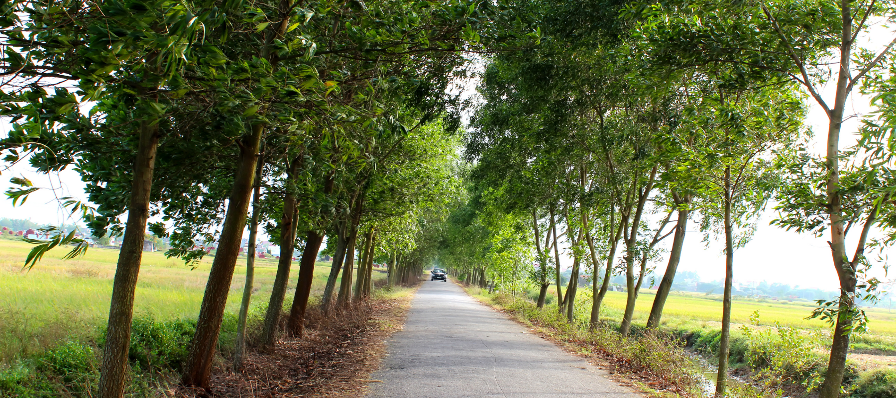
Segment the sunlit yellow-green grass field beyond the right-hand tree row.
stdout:
[[[537,293],[536,290],[528,291],[526,296],[530,300],[527,301],[531,303],[531,299],[537,298]],[[640,333],[650,312],[654,298],[651,293],[646,291],[639,296],[633,321],[636,333]],[[494,296],[479,294],[487,300],[494,299]],[[555,302],[555,298],[548,302]],[[584,325],[590,317],[590,301],[590,291],[580,290],[576,299],[578,324],[572,329],[574,333],[584,333]],[[602,326],[605,330],[615,330],[625,308],[625,293],[607,292],[604,303],[601,307]],[[530,304],[514,304],[513,310],[530,317],[534,314],[531,310],[521,309],[527,305]],[[732,326],[731,360],[735,362],[735,368],[739,368],[739,373],[759,376],[757,381],[763,379],[770,382],[770,388],[784,385],[789,394],[798,394],[800,388],[805,392],[806,386],[818,383],[817,377],[823,375],[823,368],[826,367],[826,346],[830,345],[830,333],[823,322],[805,319],[813,308],[812,303],[736,299],[732,308],[732,320],[736,324]],[[750,319],[754,311],[760,315],[758,326],[752,325]],[[850,354],[848,378],[851,394],[856,397],[896,396],[886,395],[896,394],[896,360],[890,360],[896,357],[861,353],[896,354],[896,316],[880,309],[868,311],[868,316],[874,334],[854,339],[853,349],[857,353]],[[678,292],[668,299],[663,330],[668,338],[700,351],[712,362],[718,349],[720,317],[721,299],[718,295]],[[750,324],[747,330],[744,324]],[[556,325],[551,327],[557,328]],[[625,344],[620,347],[625,347]],[[633,354],[622,354],[623,357],[625,355],[631,357]],[[877,394],[881,391],[883,395]]]

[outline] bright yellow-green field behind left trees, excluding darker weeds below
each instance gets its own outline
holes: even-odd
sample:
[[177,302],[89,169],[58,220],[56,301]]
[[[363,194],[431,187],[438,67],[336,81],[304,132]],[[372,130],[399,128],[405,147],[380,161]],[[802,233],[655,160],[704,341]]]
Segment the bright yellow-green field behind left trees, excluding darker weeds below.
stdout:
[[[90,340],[107,320],[118,251],[90,248],[87,255],[59,260],[65,248],[49,252],[30,271],[22,264],[30,246],[0,239],[0,363],[29,357],[65,340]],[[228,295],[228,311],[236,312],[246,281],[246,257],[237,263]],[[144,252],[134,299],[136,316],[173,320],[194,318],[211,268],[211,258],[191,270],[160,252]],[[276,259],[256,259],[253,303],[270,298]],[[320,294],[330,265],[314,267],[312,295]],[[375,273],[375,279],[383,273]],[[298,277],[297,262],[289,274],[287,302]]]

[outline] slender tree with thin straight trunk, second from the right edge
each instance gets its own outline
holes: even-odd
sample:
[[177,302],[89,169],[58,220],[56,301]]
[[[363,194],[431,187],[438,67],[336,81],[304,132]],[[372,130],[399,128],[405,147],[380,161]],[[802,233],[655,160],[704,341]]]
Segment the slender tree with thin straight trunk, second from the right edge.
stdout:
[[[696,169],[704,170],[702,228],[710,229],[713,224],[721,223],[725,236],[717,397],[725,396],[728,379],[734,251],[751,238],[753,220],[762,211],[779,178],[777,168],[763,158],[796,141],[803,109],[795,92],[788,95],[778,87],[732,89],[731,82],[725,80],[727,77],[711,81],[702,95],[702,107],[692,111],[695,126],[706,137],[698,150],[702,153],[691,163]],[[736,229],[741,231],[738,233]]]

